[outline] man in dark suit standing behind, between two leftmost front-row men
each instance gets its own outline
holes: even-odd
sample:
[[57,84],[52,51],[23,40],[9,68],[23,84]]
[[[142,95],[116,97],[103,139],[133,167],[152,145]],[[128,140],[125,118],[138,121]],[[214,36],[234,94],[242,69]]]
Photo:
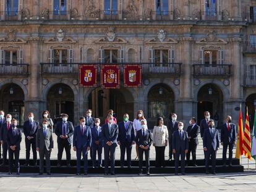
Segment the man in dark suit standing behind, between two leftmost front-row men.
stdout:
[[25,135],[26,146],[26,162],[25,166],[29,164],[30,148],[32,146],[33,151],[33,165],[36,166],[36,132],[39,128],[39,123],[34,120],[34,114],[30,112],[28,114],[28,120],[23,123],[23,133]]

